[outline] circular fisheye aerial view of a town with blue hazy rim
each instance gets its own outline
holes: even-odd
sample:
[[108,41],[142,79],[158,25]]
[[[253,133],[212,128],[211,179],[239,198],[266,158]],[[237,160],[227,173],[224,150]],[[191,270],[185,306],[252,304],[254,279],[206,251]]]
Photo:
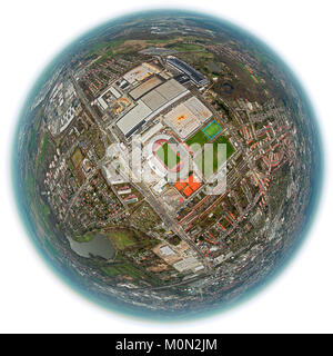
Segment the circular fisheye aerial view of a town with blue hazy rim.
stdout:
[[135,12],[37,78],[12,187],[36,249],[87,299],[137,318],[209,317],[270,284],[321,188],[311,103],[261,40],[205,13]]

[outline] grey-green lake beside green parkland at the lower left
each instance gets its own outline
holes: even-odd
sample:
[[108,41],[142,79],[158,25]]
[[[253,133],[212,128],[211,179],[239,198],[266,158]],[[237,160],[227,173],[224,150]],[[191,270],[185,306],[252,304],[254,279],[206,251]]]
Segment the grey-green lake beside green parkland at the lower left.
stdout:
[[67,236],[67,239],[71,245],[71,249],[81,257],[99,256],[105,259],[114,257],[115,250],[110,240],[103,235],[95,235],[88,243],[77,243],[69,236]]

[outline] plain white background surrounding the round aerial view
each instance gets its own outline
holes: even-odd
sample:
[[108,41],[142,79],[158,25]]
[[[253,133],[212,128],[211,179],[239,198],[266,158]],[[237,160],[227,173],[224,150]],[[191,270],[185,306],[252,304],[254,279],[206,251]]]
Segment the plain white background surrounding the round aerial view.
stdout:
[[[311,234],[286,270],[250,301],[214,318],[163,325],[105,312],[64,286],[18,219],[9,175],[20,106],[42,68],[88,29],[131,10],[188,8],[225,18],[269,43],[312,98],[323,134],[325,185]],[[140,6],[139,6],[140,4]],[[332,333],[332,1],[6,1],[0,14],[2,333]]]

